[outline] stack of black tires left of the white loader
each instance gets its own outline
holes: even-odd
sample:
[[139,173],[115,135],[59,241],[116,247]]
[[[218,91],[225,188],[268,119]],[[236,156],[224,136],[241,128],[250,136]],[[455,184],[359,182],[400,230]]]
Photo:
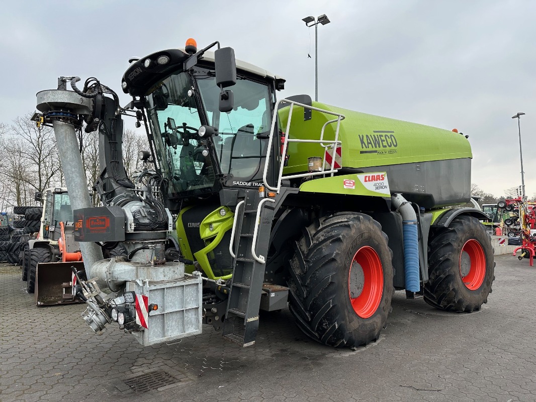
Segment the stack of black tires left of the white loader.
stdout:
[[19,215],[21,219],[12,222],[14,229],[6,249],[8,263],[23,266],[24,249],[28,248],[28,240],[35,239],[31,234],[39,232],[42,212],[41,207],[16,206],[13,208],[13,214]]

